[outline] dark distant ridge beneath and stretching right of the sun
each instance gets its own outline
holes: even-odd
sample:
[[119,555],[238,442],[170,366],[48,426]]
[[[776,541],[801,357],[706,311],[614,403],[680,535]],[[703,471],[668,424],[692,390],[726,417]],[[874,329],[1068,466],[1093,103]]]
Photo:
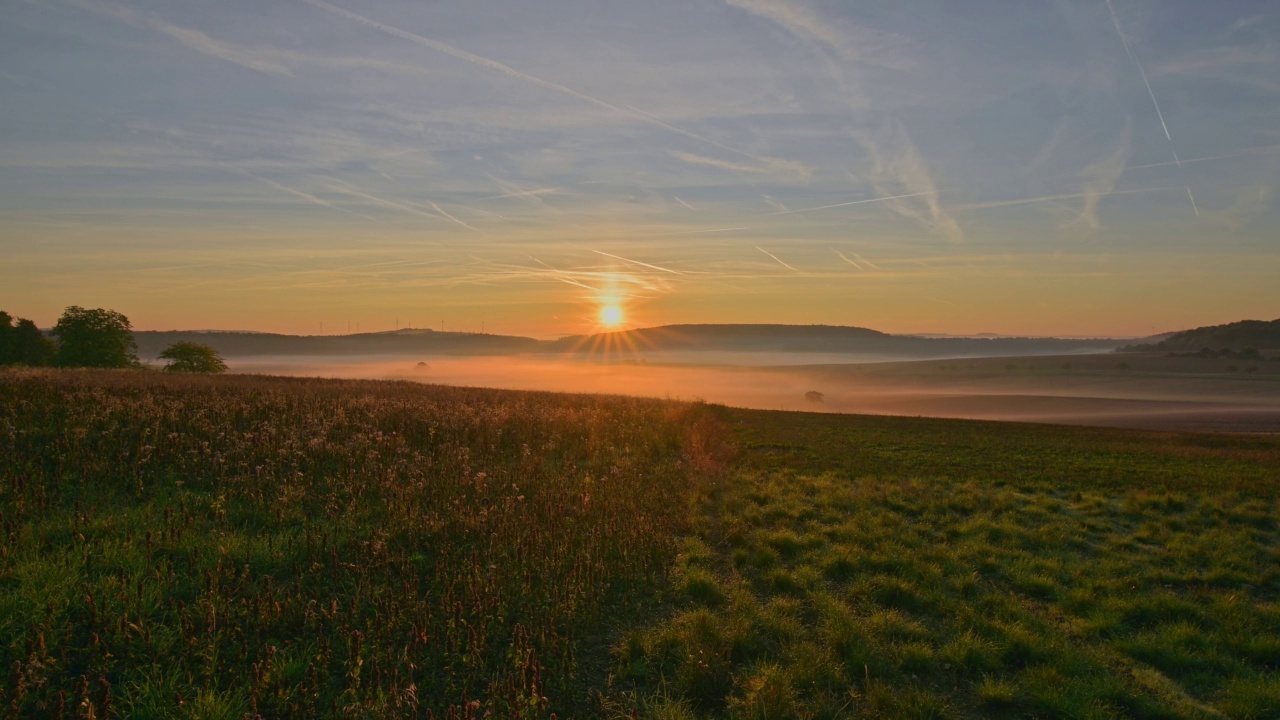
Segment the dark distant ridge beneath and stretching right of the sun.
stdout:
[[590,352],[593,348],[739,352],[856,352],[905,357],[1042,355],[1105,352],[1124,341],[1032,337],[895,336],[844,325],[662,325],[636,331],[571,336],[543,343],[544,352]]

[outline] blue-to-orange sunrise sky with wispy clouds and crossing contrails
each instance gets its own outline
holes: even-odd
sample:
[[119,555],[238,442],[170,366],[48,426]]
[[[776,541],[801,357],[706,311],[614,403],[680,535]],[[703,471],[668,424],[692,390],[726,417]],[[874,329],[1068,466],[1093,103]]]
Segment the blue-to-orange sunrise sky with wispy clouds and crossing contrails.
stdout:
[[[0,309],[556,337],[1280,316],[1280,5],[14,0]],[[620,318],[621,315],[621,318]]]

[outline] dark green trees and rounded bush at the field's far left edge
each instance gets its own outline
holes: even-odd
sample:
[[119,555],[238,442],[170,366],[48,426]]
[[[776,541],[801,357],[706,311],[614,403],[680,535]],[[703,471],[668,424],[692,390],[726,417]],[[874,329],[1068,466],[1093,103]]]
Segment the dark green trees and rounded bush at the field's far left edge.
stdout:
[[[165,370],[221,373],[227,363],[198,342],[175,342],[160,354]],[[142,368],[129,319],[115,310],[72,305],[46,334],[32,320],[0,310],[0,366]]]

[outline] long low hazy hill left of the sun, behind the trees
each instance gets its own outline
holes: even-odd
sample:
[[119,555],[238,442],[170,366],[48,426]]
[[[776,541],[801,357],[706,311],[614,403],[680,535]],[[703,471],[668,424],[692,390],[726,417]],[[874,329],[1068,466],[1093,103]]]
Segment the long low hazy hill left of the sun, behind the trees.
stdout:
[[539,346],[531,337],[403,329],[343,336],[221,331],[136,331],[138,356],[155,359],[174,342],[200,342],[224,357],[256,355],[512,355]]

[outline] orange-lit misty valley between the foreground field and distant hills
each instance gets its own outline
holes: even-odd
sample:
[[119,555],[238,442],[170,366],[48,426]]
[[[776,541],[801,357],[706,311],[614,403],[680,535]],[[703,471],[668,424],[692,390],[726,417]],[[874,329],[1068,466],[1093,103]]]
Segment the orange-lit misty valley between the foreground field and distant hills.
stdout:
[[617,393],[762,410],[1280,432],[1280,372],[1228,377],[1167,372],[1164,365],[1158,373],[1143,372],[1117,363],[1114,355],[870,364],[840,357],[842,364],[826,356],[755,352],[653,354],[618,361],[548,355],[421,361],[403,356],[257,356],[228,357],[228,365],[234,373]]

